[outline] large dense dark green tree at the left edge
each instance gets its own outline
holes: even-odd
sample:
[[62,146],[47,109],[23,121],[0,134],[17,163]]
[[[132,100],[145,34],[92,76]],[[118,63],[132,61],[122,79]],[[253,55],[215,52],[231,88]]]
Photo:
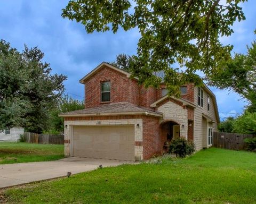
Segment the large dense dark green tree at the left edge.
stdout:
[[49,112],[63,94],[66,76],[51,74],[50,64],[37,47],[20,53],[0,41],[0,130],[22,126],[41,133]]

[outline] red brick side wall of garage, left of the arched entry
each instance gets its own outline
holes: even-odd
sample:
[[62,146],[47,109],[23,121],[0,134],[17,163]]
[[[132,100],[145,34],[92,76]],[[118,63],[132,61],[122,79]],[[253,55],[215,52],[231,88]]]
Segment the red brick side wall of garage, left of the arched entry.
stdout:
[[143,159],[149,159],[162,151],[162,142],[159,134],[159,119],[147,117],[143,119]]

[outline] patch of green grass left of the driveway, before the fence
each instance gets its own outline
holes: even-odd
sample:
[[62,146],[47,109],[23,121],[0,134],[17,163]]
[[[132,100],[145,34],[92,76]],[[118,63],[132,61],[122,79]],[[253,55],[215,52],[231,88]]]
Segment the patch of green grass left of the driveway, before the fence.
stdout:
[[63,145],[0,142],[0,164],[43,162],[64,157]]

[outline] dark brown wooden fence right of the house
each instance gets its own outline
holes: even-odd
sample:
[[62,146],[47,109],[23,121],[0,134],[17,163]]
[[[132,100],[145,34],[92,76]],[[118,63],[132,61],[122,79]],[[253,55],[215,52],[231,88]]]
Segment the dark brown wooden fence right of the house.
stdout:
[[236,134],[227,132],[213,132],[213,147],[245,150],[247,144],[244,142],[245,138],[253,138],[253,134]]

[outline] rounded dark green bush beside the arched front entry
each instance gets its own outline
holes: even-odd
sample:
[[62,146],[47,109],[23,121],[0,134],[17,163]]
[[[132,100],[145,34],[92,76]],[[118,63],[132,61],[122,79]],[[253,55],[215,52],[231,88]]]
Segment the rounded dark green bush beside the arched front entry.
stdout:
[[176,154],[179,157],[186,157],[195,151],[193,141],[188,141],[186,138],[178,138],[171,141],[170,154]]

